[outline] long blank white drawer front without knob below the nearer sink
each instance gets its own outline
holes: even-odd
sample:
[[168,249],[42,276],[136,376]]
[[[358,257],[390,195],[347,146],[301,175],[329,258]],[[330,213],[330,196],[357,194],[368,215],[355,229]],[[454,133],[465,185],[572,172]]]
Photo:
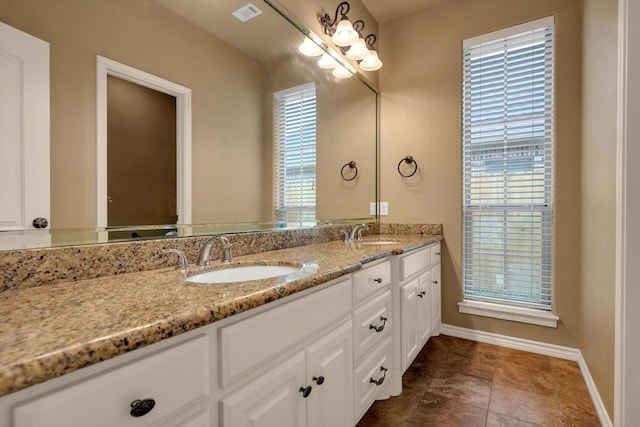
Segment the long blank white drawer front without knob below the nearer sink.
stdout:
[[351,280],[220,329],[223,387],[351,310]]

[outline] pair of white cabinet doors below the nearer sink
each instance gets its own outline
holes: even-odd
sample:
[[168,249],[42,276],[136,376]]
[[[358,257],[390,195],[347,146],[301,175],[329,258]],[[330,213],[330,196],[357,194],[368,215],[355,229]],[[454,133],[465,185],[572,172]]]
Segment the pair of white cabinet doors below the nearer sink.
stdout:
[[223,427],[351,426],[351,322],[221,400]]

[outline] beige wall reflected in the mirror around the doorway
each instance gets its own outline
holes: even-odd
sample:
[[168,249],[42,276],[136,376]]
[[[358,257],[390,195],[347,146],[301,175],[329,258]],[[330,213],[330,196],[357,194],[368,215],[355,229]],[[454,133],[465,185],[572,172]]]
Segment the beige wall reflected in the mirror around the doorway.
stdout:
[[95,226],[96,55],[192,89],[193,222],[261,219],[256,60],[145,0],[3,0],[0,21],[51,46],[52,227]]

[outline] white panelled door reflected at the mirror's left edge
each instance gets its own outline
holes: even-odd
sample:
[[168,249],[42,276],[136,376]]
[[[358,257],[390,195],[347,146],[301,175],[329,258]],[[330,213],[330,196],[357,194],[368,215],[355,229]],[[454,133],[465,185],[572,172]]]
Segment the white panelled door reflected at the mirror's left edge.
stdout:
[[49,222],[49,44],[0,23],[0,231]]

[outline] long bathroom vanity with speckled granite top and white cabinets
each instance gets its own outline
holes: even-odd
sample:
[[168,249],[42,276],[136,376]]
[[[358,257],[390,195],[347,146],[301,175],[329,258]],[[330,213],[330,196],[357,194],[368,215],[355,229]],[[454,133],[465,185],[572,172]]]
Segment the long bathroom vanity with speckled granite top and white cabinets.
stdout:
[[402,392],[439,333],[440,239],[237,259],[311,265],[293,278],[212,285],[163,269],[5,291],[4,315],[24,315],[0,333],[14,339],[0,424],[353,426]]

